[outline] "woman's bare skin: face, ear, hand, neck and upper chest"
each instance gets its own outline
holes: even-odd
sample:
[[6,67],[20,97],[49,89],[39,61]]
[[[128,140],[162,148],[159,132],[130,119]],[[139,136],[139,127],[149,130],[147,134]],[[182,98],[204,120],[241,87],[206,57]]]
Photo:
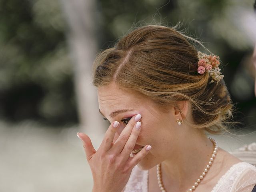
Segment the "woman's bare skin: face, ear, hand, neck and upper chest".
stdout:
[[[160,192],[156,178],[156,165],[159,163],[162,163],[162,180],[166,191],[186,191],[191,188],[208,164],[214,146],[203,130],[191,128],[185,122],[177,124],[176,119],[182,119],[180,111],[191,121],[189,102],[177,102],[180,110],[170,106],[168,111],[163,111],[152,100],[124,90],[114,82],[98,87],[98,102],[100,112],[111,123],[98,151],[93,148],[86,134],[78,134],[92,170],[93,191],[121,191],[130,177],[131,169],[138,164],[140,169],[149,170],[149,192]],[[128,111],[110,117],[112,112],[123,109]],[[142,115],[140,131],[137,132],[134,131],[136,114]],[[131,117],[127,125],[121,121]],[[120,122],[116,129],[112,127],[115,121]],[[126,133],[128,139],[123,139]],[[109,138],[108,142],[106,138]],[[123,142],[120,143],[120,140]],[[122,149],[126,149],[127,143],[132,147],[124,158]],[[146,147],[150,145],[152,148],[146,151],[144,147],[133,158],[128,157],[135,144]],[[115,149],[116,146],[119,146],[119,150]],[[130,163],[129,160],[134,162]],[[197,192],[212,189],[218,179],[238,162],[241,161],[219,148],[211,168],[198,185]]]

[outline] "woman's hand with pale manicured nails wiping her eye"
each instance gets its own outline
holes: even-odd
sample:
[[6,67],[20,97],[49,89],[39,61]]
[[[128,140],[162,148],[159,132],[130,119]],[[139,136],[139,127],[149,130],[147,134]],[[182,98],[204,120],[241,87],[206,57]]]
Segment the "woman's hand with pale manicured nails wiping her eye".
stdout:
[[77,134],[83,142],[92,171],[93,192],[121,192],[128,182],[132,168],[148,154],[151,146],[146,145],[138,154],[130,157],[140,134],[140,119],[140,114],[133,116],[114,143],[114,136],[120,123],[112,122],[97,151],[86,134]]

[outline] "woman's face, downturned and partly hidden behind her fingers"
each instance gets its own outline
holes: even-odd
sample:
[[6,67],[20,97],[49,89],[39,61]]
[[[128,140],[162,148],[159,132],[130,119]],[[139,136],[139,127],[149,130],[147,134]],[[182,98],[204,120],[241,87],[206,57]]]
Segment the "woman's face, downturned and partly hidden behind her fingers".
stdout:
[[[114,141],[118,138],[132,116],[140,113],[142,123],[140,135],[135,148],[150,144],[152,149],[138,164],[143,170],[148,170],[156,164],[170,158],[179,134],[174,109],[162,112],[152,100],[120,88],[115,83],[98,87],[99,109],[109,122],[118,121],[120,126]],[[116,113],[116,111],[119,111]],[[113,113],[115,112],[115,113]]]

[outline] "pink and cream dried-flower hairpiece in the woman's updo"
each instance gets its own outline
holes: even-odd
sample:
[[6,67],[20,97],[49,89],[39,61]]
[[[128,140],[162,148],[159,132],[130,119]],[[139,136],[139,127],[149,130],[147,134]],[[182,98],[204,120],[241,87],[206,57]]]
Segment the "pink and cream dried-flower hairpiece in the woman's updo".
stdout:
[[222,73],[220,72],[220,68],[219,68],[220,57],[216,55],[207,55],[200,51],[198,51],[197,53],[198,53],[197,72],[202,75],[204,74],[204,72],[208,71],[210,74],[210,77],[212,78],[210,83],[216,82],[218,84],[218,82],[222,80],[222,78],[224,77],[224,75],[222,75]]

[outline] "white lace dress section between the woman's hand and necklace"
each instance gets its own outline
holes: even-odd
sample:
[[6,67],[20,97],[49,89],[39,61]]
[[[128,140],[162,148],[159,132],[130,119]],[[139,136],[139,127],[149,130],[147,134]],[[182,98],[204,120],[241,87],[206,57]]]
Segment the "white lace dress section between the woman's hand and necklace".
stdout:
[[141,170],[137,165],[132,169],[130,178],[123,192],[147,192],[148,170]]

